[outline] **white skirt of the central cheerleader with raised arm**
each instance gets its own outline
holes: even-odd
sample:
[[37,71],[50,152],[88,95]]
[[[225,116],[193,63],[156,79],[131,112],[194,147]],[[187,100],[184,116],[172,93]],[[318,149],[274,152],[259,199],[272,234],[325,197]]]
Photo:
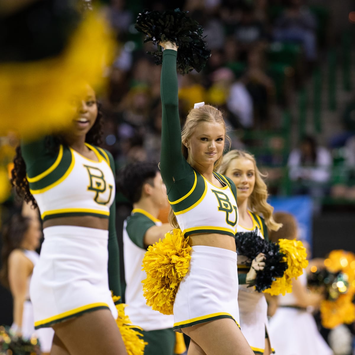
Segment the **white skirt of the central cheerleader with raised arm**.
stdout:
[[174,331],[231,318],[239,326],[237,254],[197,245],[191,250],[189,271],[174,301]]

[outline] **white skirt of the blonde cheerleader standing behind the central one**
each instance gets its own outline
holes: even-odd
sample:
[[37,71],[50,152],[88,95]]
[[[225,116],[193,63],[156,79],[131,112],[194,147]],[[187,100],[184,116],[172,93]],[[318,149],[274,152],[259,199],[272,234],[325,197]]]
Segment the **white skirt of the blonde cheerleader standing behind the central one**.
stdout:
[[254,287],[239,285],[238,305],[240,329],[244,337],[255,354],[264,354],[266,333],[269,340],[271,338],[265,296],[255,291]]

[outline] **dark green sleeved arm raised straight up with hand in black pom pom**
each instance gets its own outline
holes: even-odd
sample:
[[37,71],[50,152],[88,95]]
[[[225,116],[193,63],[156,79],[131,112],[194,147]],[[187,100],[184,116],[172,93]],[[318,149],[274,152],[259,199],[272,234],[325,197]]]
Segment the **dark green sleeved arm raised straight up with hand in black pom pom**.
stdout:
[[160,96],[162,99],[160,173],[169,192],[174,180],[179,180],[184,176],[188,164],[181,153],[178,75],[176,73],[177,47],[171,42],[164,42],[162,46],[165,49],[160,77]]

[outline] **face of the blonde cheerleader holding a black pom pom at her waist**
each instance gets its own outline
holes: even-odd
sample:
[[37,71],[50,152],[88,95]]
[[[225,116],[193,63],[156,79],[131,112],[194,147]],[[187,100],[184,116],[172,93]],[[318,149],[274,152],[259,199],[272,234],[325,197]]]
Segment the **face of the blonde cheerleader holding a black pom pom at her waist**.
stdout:
[[225,176],[230,178],[237,188],[237,204],[252,194],[255,186],[255,165],[247,158],[231,160]]

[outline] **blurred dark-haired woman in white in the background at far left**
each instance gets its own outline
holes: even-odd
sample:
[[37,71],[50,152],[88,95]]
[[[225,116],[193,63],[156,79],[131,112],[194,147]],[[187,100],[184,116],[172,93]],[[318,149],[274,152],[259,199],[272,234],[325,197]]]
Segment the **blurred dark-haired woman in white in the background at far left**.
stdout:
[[[34,210],[32,210],[34,211]],[[33,307],[29,296],[33,267],[39,255],[41,226],[35,218],[14,215],[4,229],[2,245],[1,282],[10,288],[13,298],[12,331],[25,339],[37,337],[42,354],[49,354],[52,346],[53,329],[35,330],[33,326]]]

